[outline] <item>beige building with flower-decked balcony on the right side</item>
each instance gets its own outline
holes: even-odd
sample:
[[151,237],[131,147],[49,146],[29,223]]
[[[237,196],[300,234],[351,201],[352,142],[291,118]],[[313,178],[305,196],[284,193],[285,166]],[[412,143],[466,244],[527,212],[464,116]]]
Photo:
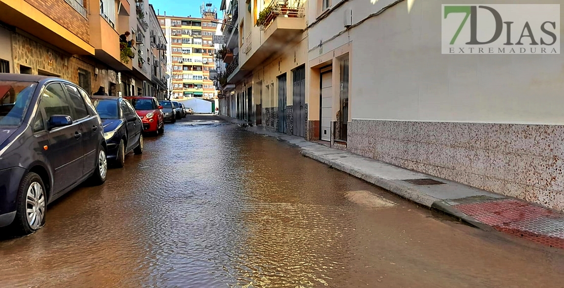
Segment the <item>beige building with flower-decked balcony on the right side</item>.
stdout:
[[[303,1],[223,1],[227,52],[220,107],[231,117],[306,135],[307,34]],[[262,12],[261,11],[268,11]]]

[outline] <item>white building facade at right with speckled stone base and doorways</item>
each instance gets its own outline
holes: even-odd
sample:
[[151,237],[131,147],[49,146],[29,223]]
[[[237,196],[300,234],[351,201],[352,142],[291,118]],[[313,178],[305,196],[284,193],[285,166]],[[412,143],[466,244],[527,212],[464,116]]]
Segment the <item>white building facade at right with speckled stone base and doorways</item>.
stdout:
[[564,210],[564,57],[441,54],[448,1],[307,3],[311,139]]

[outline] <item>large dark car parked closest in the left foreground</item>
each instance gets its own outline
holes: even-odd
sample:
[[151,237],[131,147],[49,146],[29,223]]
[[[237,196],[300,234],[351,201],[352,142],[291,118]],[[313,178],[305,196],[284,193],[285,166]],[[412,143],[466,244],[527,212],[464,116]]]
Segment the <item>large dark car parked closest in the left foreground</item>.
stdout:
[[32,233],[47,204],[86,179],[104,183],[106,174],[102,121],[82,88],[0,74],[0,227]]

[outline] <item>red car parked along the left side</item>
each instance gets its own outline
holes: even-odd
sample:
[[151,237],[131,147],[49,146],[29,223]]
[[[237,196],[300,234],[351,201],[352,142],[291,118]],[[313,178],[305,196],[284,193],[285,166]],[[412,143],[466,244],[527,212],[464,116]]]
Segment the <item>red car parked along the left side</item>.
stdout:
[[165,117],[162,114],[162,106],[158,105],[155,97],[129,96],[124,97],[141,117],[143,121],[143,132],[162,134],[165,132]]

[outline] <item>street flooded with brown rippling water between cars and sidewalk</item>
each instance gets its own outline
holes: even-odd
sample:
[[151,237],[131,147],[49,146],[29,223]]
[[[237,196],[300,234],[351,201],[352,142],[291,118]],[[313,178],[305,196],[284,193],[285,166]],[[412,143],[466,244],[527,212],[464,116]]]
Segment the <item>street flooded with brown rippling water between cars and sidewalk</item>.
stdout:
[[0,259],[0,287],[564,287],[561,250],[198,116],[60,198],[37,233],[0,240]]

